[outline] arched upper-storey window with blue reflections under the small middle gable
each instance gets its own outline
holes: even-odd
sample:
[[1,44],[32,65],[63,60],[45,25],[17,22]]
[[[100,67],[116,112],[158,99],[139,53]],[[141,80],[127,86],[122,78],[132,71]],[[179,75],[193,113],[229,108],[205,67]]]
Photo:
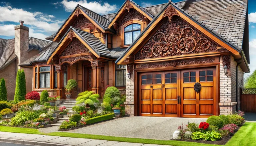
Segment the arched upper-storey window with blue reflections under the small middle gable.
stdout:
[[140,34],[140,25],[131,24],[124,28],[124,45],[131,44]]

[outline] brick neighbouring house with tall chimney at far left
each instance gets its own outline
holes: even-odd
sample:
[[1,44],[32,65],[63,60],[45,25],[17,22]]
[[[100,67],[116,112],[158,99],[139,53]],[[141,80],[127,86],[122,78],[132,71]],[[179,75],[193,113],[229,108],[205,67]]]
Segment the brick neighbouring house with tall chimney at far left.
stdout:
[[[29,37],[29,28],[23,26],[23,23],[20,21],[20,25],[14,27],[14,39],[0,38],[0,78],[5,79],[8,100],[14,99],[16,74],[18,69],[23,69],[18,65],[37,55],[43,47],[50,43],[50,41]],[[33,69],[24,68],[24,71],[26,89],[27,92],[30,92],[33,87]]]

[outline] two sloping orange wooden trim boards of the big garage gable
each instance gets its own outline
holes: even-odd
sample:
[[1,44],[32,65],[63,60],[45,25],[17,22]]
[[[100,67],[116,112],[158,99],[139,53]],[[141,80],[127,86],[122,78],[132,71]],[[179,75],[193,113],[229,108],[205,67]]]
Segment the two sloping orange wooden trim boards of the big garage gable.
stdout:
[[[183,13],[178,11],[176,8],[175,8],[175,10],[180,15],[179,17],[181,17],[185,22],[187,22],[191,26],[195,27],[202,34],[206,35],[209,39],[213,40],[217,44],[221,45],[223,48],[232,52],[236,57],[240,56],[240,53],[237,50],[233,49],[231,46],[227,45],[226,43],[221,41],[219,38],[217,38],[214,35],[212,35],[211,33],[209,33],[205,28],[198,25],[196,22],[192,21],[191,18],[188,18],[187,16],[185,16]],[[151,26],[148,28],[148,30],[139,38],[139,40],[130,48],[130,50],[118,61],[118,63],[117,63],[118,65],[120,65],[132,52],[134,52],[141,45],[141,43],[145,42],[145,38],[147,38],[147,36],[149,36],[150,33],[154,32],[153,29],[155,27],[157,27],[158,23],[160,23],[160,21],[162,19],[167,17],[167,16],[163,17],[163,15],[165,14],[165,11],[155,20],[155,22],[153,24],[151,24]]]

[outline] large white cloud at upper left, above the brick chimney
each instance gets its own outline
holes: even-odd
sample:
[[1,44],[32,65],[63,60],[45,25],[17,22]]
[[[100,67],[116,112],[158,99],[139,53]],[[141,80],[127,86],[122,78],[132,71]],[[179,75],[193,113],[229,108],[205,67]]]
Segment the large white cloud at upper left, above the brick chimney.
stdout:
[[[29,12],[24,9],[13,8],[9,5],[0,6],[0,22],[19,22],[23,20],[25,25],[34,26],[47,33],[56,32],[63,20],[55,20],[53,15],[42,12]],[[11,35],[11,34],[10,34]]]

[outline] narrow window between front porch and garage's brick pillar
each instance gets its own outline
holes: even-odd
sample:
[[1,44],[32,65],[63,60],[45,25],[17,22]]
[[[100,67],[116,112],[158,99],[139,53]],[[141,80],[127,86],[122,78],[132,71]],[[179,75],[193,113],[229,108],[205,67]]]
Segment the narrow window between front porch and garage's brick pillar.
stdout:
[[126,65],[116,65],[116,70],[115,70],[116,87],[125,87],[125,83],[126,83],[125,70],[126,70]]

